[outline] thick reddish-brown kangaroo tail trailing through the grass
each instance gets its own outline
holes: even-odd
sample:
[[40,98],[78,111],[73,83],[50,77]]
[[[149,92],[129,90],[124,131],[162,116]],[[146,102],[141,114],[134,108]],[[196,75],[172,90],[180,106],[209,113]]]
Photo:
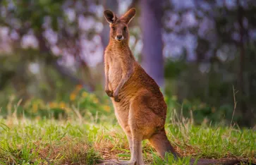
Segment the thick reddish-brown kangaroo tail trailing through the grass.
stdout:
[[[173,156],[178,159],[181,156],[178,154],[178,152],[175,151],[175,149],[171,146],[171,143],[169,142],[165,130],[160,130],[158,133],[152,135],[150,137],[150,144],[154,147],[154,149],[157,150],[157,152],[160,154],[160,157],[164,159],[166,152],[169,152],[173,154]],[[190,159],[190,164],[194,164],[196,159]],[[204,164],[239,164],[240,161],[236,159],[197,159],[198,165],[204,165]]]

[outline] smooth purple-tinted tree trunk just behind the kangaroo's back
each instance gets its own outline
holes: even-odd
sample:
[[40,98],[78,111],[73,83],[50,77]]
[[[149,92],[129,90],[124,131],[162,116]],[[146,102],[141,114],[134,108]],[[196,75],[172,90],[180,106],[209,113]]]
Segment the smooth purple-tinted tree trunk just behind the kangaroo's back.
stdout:
[[141,0],[142,67],[164,87],[164,57],[161,39],[162,1]]

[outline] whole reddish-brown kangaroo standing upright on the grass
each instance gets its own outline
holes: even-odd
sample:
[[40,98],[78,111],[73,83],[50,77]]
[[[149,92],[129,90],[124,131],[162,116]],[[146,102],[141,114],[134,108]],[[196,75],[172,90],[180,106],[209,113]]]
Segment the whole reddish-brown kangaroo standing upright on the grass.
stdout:
[[[144,164],[142,140],[164,159],[166,152],[180,155],[169,142],[164,124],[166,103],[157,83],[139,65],[130,51],[128,24],[135,16],[131,8],[121,18],[109,10],[104,17],[111,28],[109,44],[104,51],[105,92],[111,98],[118,123],[128,138],[131,158],[127,164]],[[153,47],[153,45],[152,45]],[[191,160],[193,164],[195,160]],[[197,164],[220,164],[224,161],[200,159]]]

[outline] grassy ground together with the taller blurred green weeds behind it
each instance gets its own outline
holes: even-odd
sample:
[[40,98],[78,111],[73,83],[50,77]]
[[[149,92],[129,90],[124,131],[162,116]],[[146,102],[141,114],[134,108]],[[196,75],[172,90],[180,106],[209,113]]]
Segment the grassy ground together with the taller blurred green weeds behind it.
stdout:
[[[212,108],[197,109],[191,103],[176,111],[179,106],[175,99],[167,98],[166,102],[168,138],[186,158],[175,161],[166,155],[169,161],[163,161],[144,140],[146,164],[188,164],[190,157],[237,158],[256,164],[255,130],[231,127],[225,118],[211,126],[204,121]],[[190,117],[184,118],[183,114]],[[226,116],[219,111],[213,114],[214,118]],[[203,118],[196,120],[198,116]],[[102,159],[130,159],[128,140],[116,122],[108,97],[99,100],[77,87],[69,101],[31,99],[21,104],[20,99],[11,97],[0,108],[0,164],[97,164]]]

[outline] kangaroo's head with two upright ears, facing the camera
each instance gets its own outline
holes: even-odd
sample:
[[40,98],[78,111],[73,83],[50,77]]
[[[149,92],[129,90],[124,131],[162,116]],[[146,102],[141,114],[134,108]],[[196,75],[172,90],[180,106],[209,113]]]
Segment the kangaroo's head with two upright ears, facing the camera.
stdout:
[[115,39],[117,42],[127,41],[129,39],[128,24],[130,20],[135,16],[135,8],[130,8],[121,18],[117,18],[116,14],[112,11],[104,11],[106,21],[110,27],[110,37]]

